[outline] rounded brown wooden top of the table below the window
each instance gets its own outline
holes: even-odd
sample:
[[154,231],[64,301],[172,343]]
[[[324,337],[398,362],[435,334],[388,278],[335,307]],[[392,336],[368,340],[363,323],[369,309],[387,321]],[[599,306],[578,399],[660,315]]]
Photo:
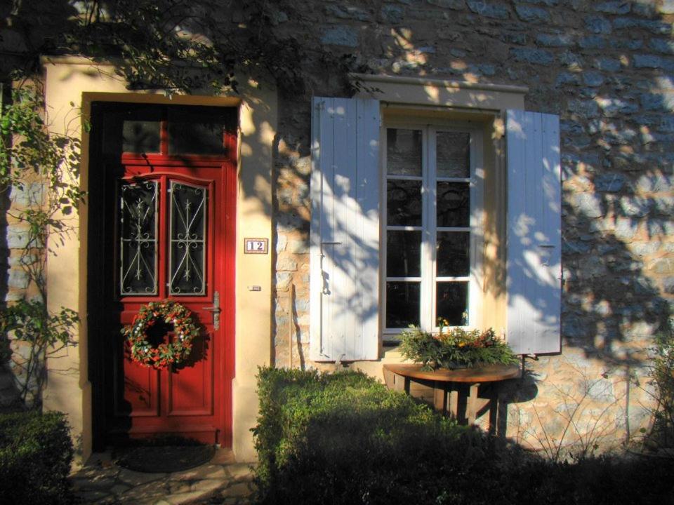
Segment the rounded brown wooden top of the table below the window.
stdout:
[[420,363],[388,363],[384,365],[384,369],[411,379],[440,382],[496,382],[522,376],[520,365],[494,364],[475,368],[458,368],[456,370],[440,368],[430,372],[421,370],[421,366]]

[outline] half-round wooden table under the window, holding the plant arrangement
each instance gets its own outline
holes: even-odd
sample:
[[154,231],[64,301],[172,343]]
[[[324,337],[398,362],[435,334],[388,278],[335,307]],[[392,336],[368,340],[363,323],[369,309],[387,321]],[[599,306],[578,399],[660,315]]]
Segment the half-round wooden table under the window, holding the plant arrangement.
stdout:
[[[498,424],[499,407],[494,383],[521,376],[520,365],[484,365],[457,370],[442,368],[430,372],[421,370],[420,364],[384,365],[384,379],[390,389],[427,400],[430,398],[427,398],[424,389],[432,389],[435,410],[448,413],[458,422],[475,424],[478,415],[488,407],[489,431],[492,432]],[[413,384],[417,387],[414,388]]]

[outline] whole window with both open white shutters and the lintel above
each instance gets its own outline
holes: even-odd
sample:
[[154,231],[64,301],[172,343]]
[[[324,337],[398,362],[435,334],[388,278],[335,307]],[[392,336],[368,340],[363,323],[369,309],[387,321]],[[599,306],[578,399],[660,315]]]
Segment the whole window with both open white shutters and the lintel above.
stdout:
[[[382,337],[437,317],[503,331],[518,354],[559,352],[559,116],[525,112],[511,87],[477,94],[510,97],[500,114],[468,114],[449,105],[477,107],[472,84],[376,79],[395,105],[312,102],[312,360],[375,360]],[[447,109],[401,105],[424,97]]]

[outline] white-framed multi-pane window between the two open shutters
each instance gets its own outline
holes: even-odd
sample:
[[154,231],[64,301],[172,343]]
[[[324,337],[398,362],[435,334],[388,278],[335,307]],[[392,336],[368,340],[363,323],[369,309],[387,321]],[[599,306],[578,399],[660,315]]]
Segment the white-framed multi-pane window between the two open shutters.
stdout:
[[383,155],[383,327],[475,325],[482,138],[475,127],[387,123]]

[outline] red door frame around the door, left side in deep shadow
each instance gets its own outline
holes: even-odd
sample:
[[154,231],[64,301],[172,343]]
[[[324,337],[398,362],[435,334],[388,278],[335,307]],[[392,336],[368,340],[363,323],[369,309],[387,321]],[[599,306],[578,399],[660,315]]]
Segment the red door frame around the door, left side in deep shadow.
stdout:
[[[96,110],[96,104],[101,103],[100,110]],[[220,166],[225,170],[223,176],[223,195],[224,202],[213,208],[213,212],[223,212],[222,224],[225,229],[225,236],[222,244],[222,257],[214,258],[213,268],[216,270],[216,276],[220,275],[221,309],[222,318],[220,328],[222,330],[222,340],[219,345],[223,346],[224,359],[220,363],[213,363],[213,372],[216,377],[222,377],[224,384],[220,387],[213,384],[213,395],[216,390],[220,390],[223,398],[216,401],[213,399],[213,408],[218,407],[218,412],[214,412],[216,418],[220,419],[218,429],[218,443],[224,447],[232,447],[232,425],[233,425],[233,398],[232,381],[234,379],[234,332],[236,327],[236,303],[235,303],[235,272],[236,272],[236,241],[237,241],[237,166],[238,149],[237,134],[227,134],[225,138],[225,149],[227,156],[209,156],[209,155],[136,155],[121,154],[119,160],[111,161],[105,159],[102,154],[102,133],[103,128],[95,128],[101,121],[101,115],[105,109],[124,109],[124,107],[133,107],[134,102],[124,102],[116,100],[92,100],[91,123],[92,132],[89,136],[89,166],[98,167],[103,173],[98,173],[98,177],[92,177],[89,173],[88,183],[88,227],[87,227],[87,285],[86,297],[88,306],[87,334],[91,335],[88,341],[88,377],[92,385],[91,398],[91,424],[93,435],[93,450],[103,450],[110,443],[111,438],[106,426],[107,403],[112,396],[107,387],[112,384],[113,377],[106,376],[107,370],[105,363],[105,346],[110,344],[105,342],[103,335],[110,333],[110,325],[119,325],[119,321],[110,321],[106,318],[109,314],[117,314],[116,309],[110,308],[112,299],[110,293],[116,290],[117,280],[117,254],[112,252],[116,250],[116,229],[117,229],[117,185],[121,180],[119,167],[127,164],[138,163],[156,163],[161,166],[160,172],[164,173],[166,168],[171,166]],[[161,104],[171,107],[171,104]],[[216,106],[209,106],[215,108]],[[227,107],[227,106],[223,106]],[[232,108],[230,106],[230,108]],[[234,115],[238,121],[238,111]],[[213,244],[213,247],[215,245]],[[107,255],[101,254],[102,251],[108,251]],[[103,260],[102,260],[103,259]],[[139,299],[143,304],[145,299]],[[97,338],[98,336],[98,338]]]

